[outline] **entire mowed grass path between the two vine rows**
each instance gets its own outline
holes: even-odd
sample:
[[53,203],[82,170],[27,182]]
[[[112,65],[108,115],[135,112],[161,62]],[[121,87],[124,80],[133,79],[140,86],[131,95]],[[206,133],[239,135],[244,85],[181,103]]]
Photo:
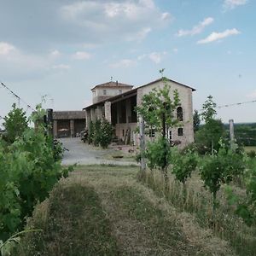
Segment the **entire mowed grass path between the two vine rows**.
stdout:
[[137,181],[137,167],[78,166],[39,205],[18,255],[235,255]]

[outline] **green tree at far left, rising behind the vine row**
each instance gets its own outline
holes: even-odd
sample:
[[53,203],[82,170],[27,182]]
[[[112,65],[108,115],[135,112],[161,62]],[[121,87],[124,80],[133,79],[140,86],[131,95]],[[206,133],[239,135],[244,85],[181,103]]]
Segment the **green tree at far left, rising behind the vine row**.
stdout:
[[5,139],[8,143],[14,143],[27,128],[26,112],[22,108],[16,108],[13,104],[12,110],[4,117],[3,127],[6,130]]

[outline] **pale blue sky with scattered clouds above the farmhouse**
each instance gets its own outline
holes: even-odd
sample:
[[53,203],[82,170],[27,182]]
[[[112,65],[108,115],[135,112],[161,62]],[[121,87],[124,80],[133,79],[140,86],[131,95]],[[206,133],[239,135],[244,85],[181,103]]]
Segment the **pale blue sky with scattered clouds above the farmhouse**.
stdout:
[[[164,75],[207,96],[225,123],[256,122],[255,0],[0,0],[0,81],[31,111],[81,110],[113,78]],[[0,85],[0,116],[18,103]],[[3,119],[2,119],[3,121]],[[1,123],[1,119],[0,119]]]

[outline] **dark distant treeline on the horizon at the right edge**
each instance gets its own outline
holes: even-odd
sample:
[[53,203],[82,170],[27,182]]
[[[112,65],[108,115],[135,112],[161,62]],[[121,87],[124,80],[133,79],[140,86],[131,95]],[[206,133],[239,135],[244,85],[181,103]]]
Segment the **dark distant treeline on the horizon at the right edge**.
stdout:
[[[225,124],[229,131],[229,124]],[[256,123],[234,124],[236,142],[243,146],[256,146]]]

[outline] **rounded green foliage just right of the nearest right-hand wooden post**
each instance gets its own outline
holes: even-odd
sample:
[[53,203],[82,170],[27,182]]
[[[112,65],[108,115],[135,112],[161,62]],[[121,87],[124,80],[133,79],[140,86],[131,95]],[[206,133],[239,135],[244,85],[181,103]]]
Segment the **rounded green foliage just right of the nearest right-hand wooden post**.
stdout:
[[168,143],[166,138],[159,137],[154,142],[149,142],[145,152],[148,167],[153,170],[155,168],[166,168],[166,165],[169,166],[171,163],[170,150],[170,143]]

